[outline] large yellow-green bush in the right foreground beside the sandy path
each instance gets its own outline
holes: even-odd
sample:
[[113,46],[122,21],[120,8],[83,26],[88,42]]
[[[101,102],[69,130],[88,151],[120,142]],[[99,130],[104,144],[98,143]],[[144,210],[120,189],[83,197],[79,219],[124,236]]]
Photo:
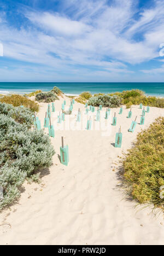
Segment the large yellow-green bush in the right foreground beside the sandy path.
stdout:
[[160,186],[164,185],[164,118],[140,132],[137,142],[124,160],[124,178],[133,198],[139,203],[154,203],[163,208]]

